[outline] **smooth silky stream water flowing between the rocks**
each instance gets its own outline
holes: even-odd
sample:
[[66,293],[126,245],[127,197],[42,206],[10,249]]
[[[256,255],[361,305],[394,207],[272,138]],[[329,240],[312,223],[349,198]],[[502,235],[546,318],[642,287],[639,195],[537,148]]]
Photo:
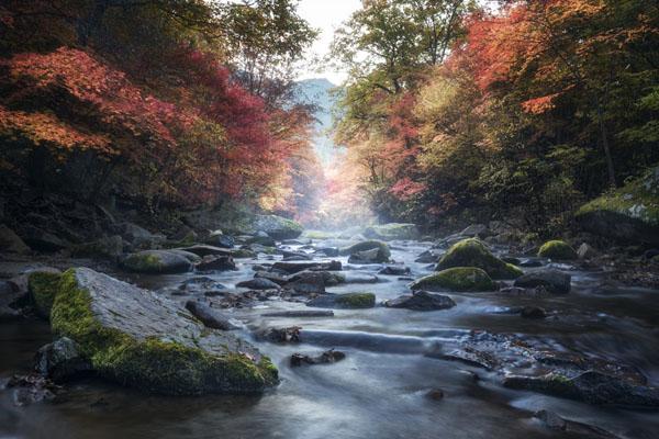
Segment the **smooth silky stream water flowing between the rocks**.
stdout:
[[[328,243],[340,244],[340,243]],[[432,266],[414,262],[431,243],[391,243],[392,258],[412,277]],[[239,260],[238,271],[211,277],[233,288],[254,275]],[[275,259],[281,258],[275,256]],[[380,266],[350,266],[354,273],[376,273]],[[501,386],[493,372],[425,356],[433,345],[459,344],[471,330],[530,337],[561,350],[580,352],[641,371],[659,385],[659,291],[606,289],[599,272],[576,271],[567,295],[524,297],[500,293],[448,293],[457,306],[414,312],[376,306],[336,309],[333,317],[281,318],[275,309],[310,309],[303,303],[260,302],[227,313],[244,323],[244,337],[268,354],[281,384],[263,396],[149,396],[99,380],[67,385],[54,403],[16,407],[0,393],[0,438],[552,438],[580,437],[548,429],[533,413],[549,409],[624,438],[658,438],[655,410],[602,407]],[[349,271],[348,271],[349,272]],[[123,274],[120,274],[123,275]],[[186,275],[131,277],[163,291]],[[124,275],[125,277],[125,275]],[[378,274],[377,283],[348,283],[328,292],[373,292],[378,302],[409,292],[409,280]],[[180,297],[179,297],[180,300]],[[539,305],[550,317],[525,319],[512,307]],[[301,326],[299,345],[254,339],[261,327]],[[36,349],[48,342],[48,326],[34,320],[0,324],[0,378],[26,371]],[[344,361],[291,368],[294,352],[344,351]],[[440,389],[445,396],[426,396]]]

